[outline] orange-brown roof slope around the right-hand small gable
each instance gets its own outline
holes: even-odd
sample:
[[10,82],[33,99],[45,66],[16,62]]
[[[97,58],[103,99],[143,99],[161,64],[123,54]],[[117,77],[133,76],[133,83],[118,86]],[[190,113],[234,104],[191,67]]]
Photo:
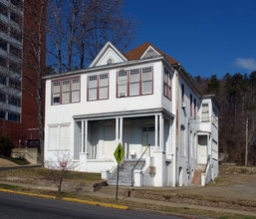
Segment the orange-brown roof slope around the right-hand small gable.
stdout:
[[138,46],[137,48],[129,51],[127,54],[125,54],[125,56],[127,57],[128,61],[138,60],[141,58],[141,56],[144,54],[145,50],[149,46],[151,46],[157,53],[163,55],[171,64],[178,64],[178,62],[176,60],[172,59],[167,54],[161,52],[160,50],[158,50],[156,47],[154,47],[153,45],[151,45],[148,42],[145,42],[142,45]]

